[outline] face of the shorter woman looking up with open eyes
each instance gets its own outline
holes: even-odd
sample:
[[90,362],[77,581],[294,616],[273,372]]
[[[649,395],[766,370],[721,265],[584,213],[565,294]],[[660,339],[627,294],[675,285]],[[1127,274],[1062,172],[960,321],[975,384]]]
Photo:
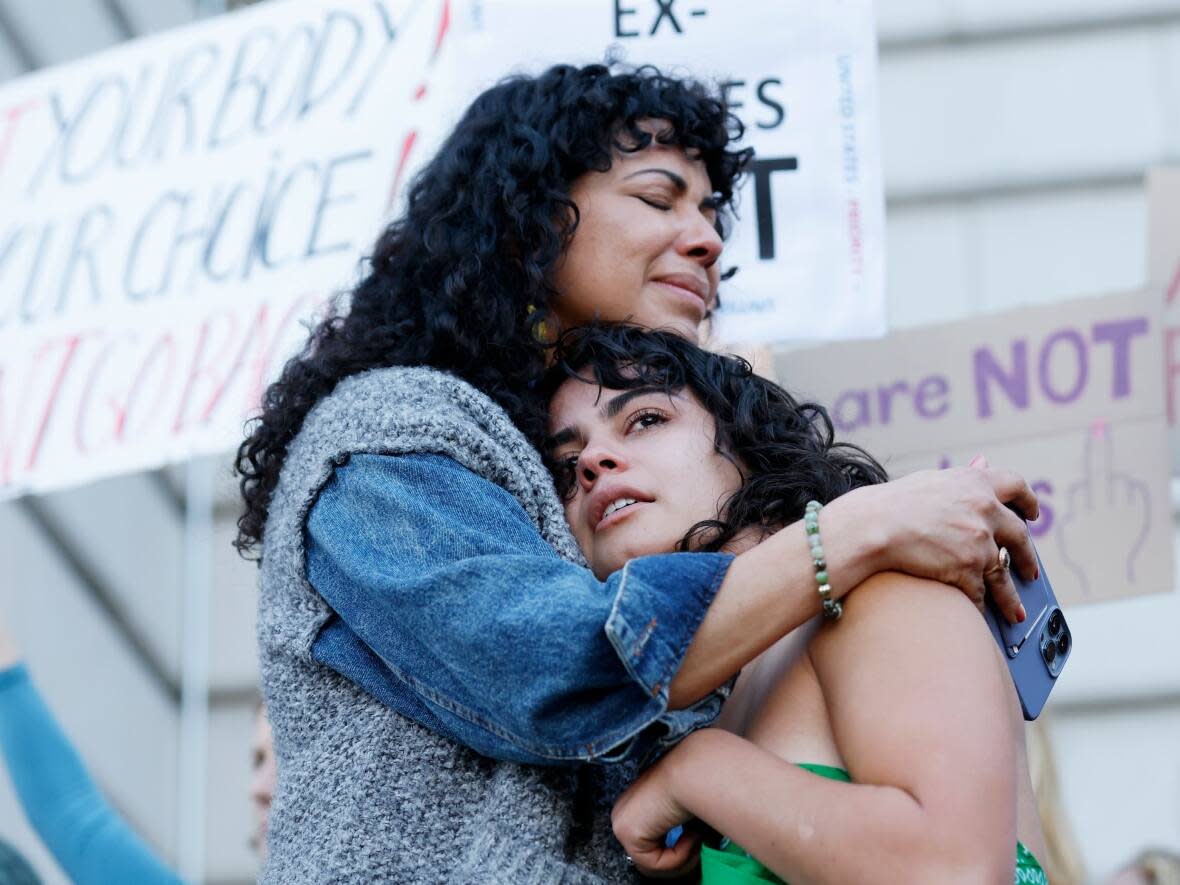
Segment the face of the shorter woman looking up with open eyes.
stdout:
[[599,578],[669,553],[716,518],[741,474],[714,446],[713,415],[687,391],[612,391],[570,379],[550,402],[550,454],[572,472],[565,518]]

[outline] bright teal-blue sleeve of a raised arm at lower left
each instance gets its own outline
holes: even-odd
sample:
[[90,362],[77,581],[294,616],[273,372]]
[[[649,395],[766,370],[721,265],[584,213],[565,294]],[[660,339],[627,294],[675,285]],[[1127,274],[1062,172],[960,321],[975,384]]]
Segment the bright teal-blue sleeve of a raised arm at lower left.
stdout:
[[0,671],[0,749],[33,830],[77,885],[179,883],[99,793],[28,671]]

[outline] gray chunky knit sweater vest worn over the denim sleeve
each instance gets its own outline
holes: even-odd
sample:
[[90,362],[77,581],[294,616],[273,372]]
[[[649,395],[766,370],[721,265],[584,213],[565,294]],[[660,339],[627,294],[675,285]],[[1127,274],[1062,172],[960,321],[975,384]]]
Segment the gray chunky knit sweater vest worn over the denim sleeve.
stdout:
[[[511,492],[560,556],[582,562],[538,453],[470,385],[427,368],[374,369],[316,405],[288,450],[263,542],[258,638],[278,759],[263,881],[631,881],[609,822],[625,773],[480,756],[313,660],[330,610],[307,579],[304,526],[354,452],[454,458]],[[570,839],[577,789],[596,811],[590,832]]]

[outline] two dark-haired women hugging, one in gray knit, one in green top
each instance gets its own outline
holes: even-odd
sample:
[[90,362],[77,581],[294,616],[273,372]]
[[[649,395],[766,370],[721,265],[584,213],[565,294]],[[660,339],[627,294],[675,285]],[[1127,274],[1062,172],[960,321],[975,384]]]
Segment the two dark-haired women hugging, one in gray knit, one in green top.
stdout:
[[[237,461],[264,881],[632,881],[699,847],[708,881],[1038,874],[976,610],[1022,617],[994,566],[1034,572],[1005,505],[1036,498],[985,464],[885,481],[696,348],[740,135],[653,68],[498,84],[268,389]],[[668,847],[689,820],[723,837]]]

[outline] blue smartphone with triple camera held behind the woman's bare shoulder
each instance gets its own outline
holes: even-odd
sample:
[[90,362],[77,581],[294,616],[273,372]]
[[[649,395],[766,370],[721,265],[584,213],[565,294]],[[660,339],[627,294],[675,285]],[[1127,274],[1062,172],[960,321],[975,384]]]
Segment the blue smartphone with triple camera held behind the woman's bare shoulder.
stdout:
[[[1031,543],[1031,537],[1029,542]],[[1035,546],[1032,552],[1036,553]],[[990,598],[984,607],[984,618],[1008,661],[1012,682],[1016,683],[1024,719],[1030,721],[1041,715],[1057,676],[1069,660],[1069,653],[1074,650],[1073,634],[1057,604],[1040,555],[1036,562],[1041,570],[1036,581],[1024,581],[1015,569],[1011,570],[1012,584],[1016,585],[1016,592],[1028,615],[1022,623],[1008,623]]]

